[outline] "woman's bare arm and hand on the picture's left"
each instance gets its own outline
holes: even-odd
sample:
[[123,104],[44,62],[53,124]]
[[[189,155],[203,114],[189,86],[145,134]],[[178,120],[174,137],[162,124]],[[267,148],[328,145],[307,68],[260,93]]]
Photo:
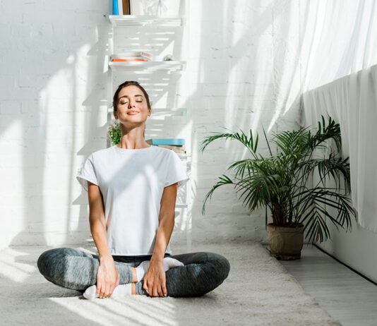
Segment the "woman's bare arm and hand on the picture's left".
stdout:
[[97,270],[97,294],[111,296],[119,284],[119,272],[114,264],[114,258],[107,245],[106,218],[100,187],[88,181],[89,223],[95,246],[100,257],[100,267]]

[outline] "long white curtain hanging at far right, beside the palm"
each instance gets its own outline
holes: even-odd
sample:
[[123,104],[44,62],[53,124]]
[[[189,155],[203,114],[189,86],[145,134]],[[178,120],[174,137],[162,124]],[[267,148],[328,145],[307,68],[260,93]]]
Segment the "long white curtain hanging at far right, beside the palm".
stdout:
[[377,232],[377,1],[300,4],[309,14],[301,25],[299,123],[316,128],[321,114],[340,123],[358,223]]

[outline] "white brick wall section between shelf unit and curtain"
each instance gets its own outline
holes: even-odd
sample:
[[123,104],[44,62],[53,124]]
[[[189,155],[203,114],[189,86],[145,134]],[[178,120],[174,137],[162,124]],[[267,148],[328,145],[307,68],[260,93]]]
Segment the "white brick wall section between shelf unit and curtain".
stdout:
[[[299,7],[294,1],[192,1],[193,239],[267,242],[264,210],[250,214],[232,186],[205,194],[234,161],[250,157],[235,140],[201,141],[226,126],[246,133],[291,129],[299,109]],[[287,113],[285,113],[287,111]],[[263,134],[261,134],[263,135]],[[267,155],[263,137],[259,148]]]

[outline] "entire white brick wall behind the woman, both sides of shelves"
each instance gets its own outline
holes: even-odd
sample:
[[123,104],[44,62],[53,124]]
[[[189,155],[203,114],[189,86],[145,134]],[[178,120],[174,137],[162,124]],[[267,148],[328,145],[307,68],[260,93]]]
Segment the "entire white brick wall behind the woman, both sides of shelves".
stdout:
[[[107,1],[0,4],[0,247],[85,241],[87,194],[75,176],[90,152],[106,146]],[[270,131],[294,126],[299,79],[287,72],[299,76],[299,13],[294,1],[277,0],[196,0],[188,8],[184,50],[170,39],[151,47],[187,61],[188,88],[164,76],[174,82],[167,93],[153,92],[153,101],[191,108],[193,241],[266,241],[264,211],[250,215],[231,186],[217,189],[201,215],[205,193],[245,157],[241,145],[217,140],[203,154],[198,149],[220,126],[261,131],[273,119]],[[289,119],[280,123],[287,107]],[[163,128],[181,137],[181,127]]]

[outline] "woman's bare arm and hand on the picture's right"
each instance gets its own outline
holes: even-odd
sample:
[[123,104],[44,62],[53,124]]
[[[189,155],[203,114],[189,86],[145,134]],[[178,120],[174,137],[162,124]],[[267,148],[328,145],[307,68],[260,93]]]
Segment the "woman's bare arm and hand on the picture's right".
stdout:
[[165,187],[162,193],[155,250],[153,250],[150,265],[143,282],[143,288],[148,291],[150,296],[164,296],[164,294],[167,294],[163,261],[174,229],[177,189],[178,183],[174,183]]

